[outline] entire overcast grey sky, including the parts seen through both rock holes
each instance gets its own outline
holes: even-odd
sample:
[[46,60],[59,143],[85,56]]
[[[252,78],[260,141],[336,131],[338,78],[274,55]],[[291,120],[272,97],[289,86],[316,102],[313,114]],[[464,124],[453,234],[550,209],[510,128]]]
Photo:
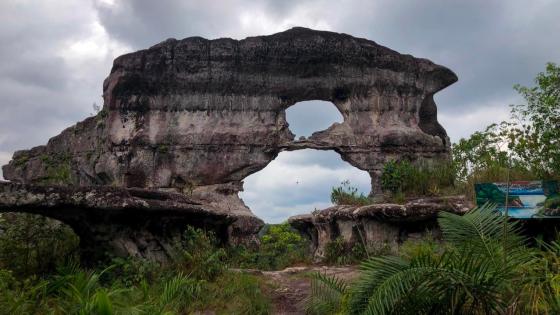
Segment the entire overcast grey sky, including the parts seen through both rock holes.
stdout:
[[[547,61],[560,62],[559,12],[553,0],[1,0],[0,165],[90,115],[123,53],[170,37],[242,39],[293,26],[365,37],[455,71],[459,82],[436,102],[456,141],[506,119],[508,105],[521,101],[512,86],[529,85]],[[294,109],[289,122],[298,127],[313,117],[317,125],[295,133],[339,118],[310,109]],[[286,172],[289,182],[274,176]],[[343,179],[367,193],[365,175],[333,152],[282,153],[247,180],[243,198],[265,220],[280,221],[327,205],[330,186]]]

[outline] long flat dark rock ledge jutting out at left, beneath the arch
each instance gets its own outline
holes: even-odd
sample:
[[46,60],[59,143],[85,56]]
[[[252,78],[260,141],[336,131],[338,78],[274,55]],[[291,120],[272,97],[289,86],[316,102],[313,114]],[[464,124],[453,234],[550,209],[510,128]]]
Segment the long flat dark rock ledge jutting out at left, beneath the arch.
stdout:
[[[231,213],[184,194],[106,186],[36,186],[0,182],[0,213],[27,212],[68,224],[80,237],[82,259],[106,253],[165,261],[187,225],[213,231],[225,242],[244,224],[258,231],[262,221]],[[236,223],[238,222],[238,223]]]

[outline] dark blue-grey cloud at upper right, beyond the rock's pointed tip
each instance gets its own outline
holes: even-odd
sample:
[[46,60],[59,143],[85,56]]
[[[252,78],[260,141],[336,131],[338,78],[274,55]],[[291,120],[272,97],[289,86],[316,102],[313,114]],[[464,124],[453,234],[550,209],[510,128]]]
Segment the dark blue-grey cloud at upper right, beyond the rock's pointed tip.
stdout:
[[549,36],[560,32],[557,1],[372,3],[341,27],[454,70],[459,82],[436,96],[446,115],[498,100],[506,109],[516,98],[514,84],[531,84],[545,62],[560,61],[560,41]]

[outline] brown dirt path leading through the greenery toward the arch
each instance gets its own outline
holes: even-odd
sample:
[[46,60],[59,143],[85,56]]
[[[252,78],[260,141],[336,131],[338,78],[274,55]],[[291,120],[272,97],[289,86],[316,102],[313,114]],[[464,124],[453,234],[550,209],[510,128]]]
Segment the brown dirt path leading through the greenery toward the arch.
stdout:
[[254,271],[270,285],[272,314],[305,314],[305,300],[311,291],[309,275],[321,272],[351,280],[357,275],[357,266],[309,266],[291,267],[280,271]]

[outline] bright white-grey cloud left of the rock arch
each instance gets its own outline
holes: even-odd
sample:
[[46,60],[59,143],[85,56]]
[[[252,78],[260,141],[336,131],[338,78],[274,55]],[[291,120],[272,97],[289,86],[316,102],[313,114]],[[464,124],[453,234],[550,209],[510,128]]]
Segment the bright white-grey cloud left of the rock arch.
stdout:
[[112,60],[126,50],[88,2],[2,1],[0,165],[86,118],[101,102]]

